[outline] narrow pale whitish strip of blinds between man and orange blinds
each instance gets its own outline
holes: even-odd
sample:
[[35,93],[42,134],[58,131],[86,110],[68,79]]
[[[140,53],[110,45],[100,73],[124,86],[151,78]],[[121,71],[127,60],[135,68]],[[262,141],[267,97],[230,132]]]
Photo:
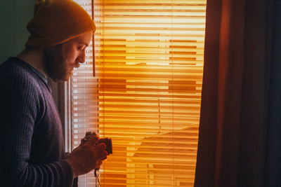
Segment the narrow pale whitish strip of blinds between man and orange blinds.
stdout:
[[[77,4],[85,8],[85,10],[92,14],[92,1],[91,0],[74,0]],[[68,82],[67,89],[69,95],[69,109],[71,116],[67,125],[71,127],[70,138],[67,139],[66,144],[70,149],[73,150],[80,144],[80,140],[85,136],[86,131],[97,132],[97,116],[98,116],[98,105],[96,100],[97,92],[97,78],[93,77],[93,42],[90,43],[89,47],[86,48],[86,62],[80,64],[78,69],[74,69],[73,76]],[[67,131],[67,127],[65,127]],[[65,136],[67,137],[67,136]],[[71,151],[67,150],[67,151]],[[78,179],[79,187],[93,187],[96,186],[96,178],[93,172],[89,174],[79,176]]]

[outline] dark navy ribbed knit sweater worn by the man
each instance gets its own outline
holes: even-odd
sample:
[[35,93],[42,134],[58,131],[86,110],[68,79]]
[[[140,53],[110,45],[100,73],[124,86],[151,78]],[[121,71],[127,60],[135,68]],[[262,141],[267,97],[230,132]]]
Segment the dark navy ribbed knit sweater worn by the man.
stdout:
[[18,58],[0,65],[0,186],[72,186],[51,88]]

